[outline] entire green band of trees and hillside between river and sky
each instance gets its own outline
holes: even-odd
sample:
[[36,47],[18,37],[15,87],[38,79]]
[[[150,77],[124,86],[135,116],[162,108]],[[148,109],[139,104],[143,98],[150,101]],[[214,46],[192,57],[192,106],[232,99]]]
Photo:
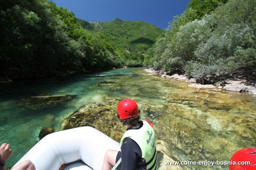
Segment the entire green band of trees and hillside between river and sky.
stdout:
[[255,0],[191,0],[164,31],[119,18],[88,22],[51,0],[0,6],[2,80],[123,66],[153,67],[203,83],[255,80]]

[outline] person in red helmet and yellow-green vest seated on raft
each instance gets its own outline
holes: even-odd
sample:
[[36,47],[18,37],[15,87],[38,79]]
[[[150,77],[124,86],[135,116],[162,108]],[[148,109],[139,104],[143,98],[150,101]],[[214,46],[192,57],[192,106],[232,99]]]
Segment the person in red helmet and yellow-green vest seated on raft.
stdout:
[[121,170],[158,169],[156,162],[156,136],[153,124],[146,120],[140,121],[137,103],[132,99],[124,99],[118,103],[117,118],[127,131],[124,133],[120,146],[121,152],[107,150],[102,170],[117,166]]

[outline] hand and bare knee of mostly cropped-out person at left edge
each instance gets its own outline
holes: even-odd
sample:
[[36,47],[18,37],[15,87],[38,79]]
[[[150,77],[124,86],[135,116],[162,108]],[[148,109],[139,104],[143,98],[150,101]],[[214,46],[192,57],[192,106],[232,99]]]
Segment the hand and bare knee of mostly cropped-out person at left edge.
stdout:
[[[5,163],[11,157],[12,153],[13,152],[10,148],[10,144],[4,143],[0,146],[0,170],[5,170]],[[36,169],[35,165],[31,161],[27,160],[15,166],[11,170],[35,170],[35,169]]]

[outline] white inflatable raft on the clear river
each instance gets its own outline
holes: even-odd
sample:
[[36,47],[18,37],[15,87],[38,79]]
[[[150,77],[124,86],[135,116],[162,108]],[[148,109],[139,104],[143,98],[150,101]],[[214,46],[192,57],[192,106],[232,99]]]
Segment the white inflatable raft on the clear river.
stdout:
[[102,132],[78,127],[42,138],[14,166],[30,160],[36,170],[101,170],[106,150],[120,150],[120,145]]

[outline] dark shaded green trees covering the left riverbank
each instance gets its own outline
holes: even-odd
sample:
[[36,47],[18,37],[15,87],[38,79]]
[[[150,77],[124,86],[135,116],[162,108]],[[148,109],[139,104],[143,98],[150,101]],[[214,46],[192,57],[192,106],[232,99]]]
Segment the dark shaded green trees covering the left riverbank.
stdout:
[[115,46],[48,0],[0,1],[0,76],[11,78],[123,66]]

